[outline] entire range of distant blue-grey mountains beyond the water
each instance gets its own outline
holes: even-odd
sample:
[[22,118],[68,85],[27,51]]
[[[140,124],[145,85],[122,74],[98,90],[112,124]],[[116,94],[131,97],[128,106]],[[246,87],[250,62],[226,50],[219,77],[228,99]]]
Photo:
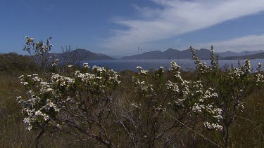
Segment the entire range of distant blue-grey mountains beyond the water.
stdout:
[[[199,50],[195,49],[196,55],[199,59],[209,59],[210,58],[210,50],[206,48],[201,48]],[[0,53],[5,54],[5,53]],[[86,49],[78,48],[73,51],[66,51],[64,53],[52,53],[52,55],[56,55],[56,58],[60,60],[60,62],[71,62],[77,63],[82,61],[89,60],[114,60],[123,59],[123,60],[145,60],[145,59],[192,59],[190,49],[186,49],[184,51],[179,51],[177,49],[169,48],[166,51],[149,51],[146,53],[142,53],[139,55],[131,55],[131,56],[108,56],[102,53],[92,53],[91,51],[87,51]],[[240,53],[235,53],[232,51],[226,51],[222,53],[215,53],[215,56],[219,57],[219,59],[264,59],[264,51],[242,51]],[[114,57],[114,58],[113,58]]]

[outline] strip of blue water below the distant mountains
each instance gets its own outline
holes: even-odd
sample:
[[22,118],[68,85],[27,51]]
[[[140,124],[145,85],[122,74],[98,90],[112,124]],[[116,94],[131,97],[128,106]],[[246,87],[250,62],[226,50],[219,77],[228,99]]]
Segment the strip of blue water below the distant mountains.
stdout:
[[[94,65],[100,67],[108,67],[115,71],[122,70],[132,70],[137,71],[137,66],[141,66],[142,69],[158,69],[159,67],[164,67],[164,69],[170,68],[170,62],[175,61],[177,65],[180,65],[183,70],[191,70],[195,69],[194,60],[191,59],[155,59],[155,60],[90,60],[87,61],[89,66],[92,67]],[[202,62],[206,62],[207,65],[210,65],[210,60],[201,60]],[[241,65],[244,64],[244,60],[239,60]],[[258,63],[263,63],[264,59],[254,59],[250,60],[251,68],[253,72],[256,71],[258,67]],[[219,60],[219,67],[231,67],[232,63],[235,67],[237,67],[238,60]],[[264,68],[263,68],[264,69]]]

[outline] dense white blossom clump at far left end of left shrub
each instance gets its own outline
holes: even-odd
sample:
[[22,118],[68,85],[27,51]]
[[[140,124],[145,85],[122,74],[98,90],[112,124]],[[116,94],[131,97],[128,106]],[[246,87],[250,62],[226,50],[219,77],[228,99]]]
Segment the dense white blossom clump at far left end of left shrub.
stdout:
[[[52,81],[46,82],[39,78],[37,74],[20,76],[22,83],[27,83],[27,86],[30,83],[32,86],[27,91],[28,100],[23,100],[21,96],[17,97],[19,103],[23,105],[22,112],[26,116],[24,122],[28,124],[28,130],[39,125],[39,123],[47,124],[54,120],[55,112],[60,111],[60,108],[56,105],[56,100],[54,100],[56,94],[54,84],[63,81],[63,78],[63,76],[53,74]],[[65,82],[63,81],[63,83]]]

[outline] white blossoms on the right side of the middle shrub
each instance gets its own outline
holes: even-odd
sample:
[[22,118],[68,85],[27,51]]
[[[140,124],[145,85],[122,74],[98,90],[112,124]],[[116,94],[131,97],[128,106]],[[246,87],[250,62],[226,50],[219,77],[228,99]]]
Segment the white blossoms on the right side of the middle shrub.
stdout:
[[[201,81],[186,81],[180,76],[180,67],[175,62],[171,62],[171,71],[174,72],[177,83],[168,81],[166,88],[170,93],[173,102],[169,102],[170,105],[176,105],[177,108],[191,109],[196,114],[208,114],[208,120],[212,122],[210,125],[212,128],[220,129],[220,119],[222,119],[222,109],[213,105],[213,98],[218,97],[217,93],[213,93],[213,88],[204,90]],[[216,122],[215,122],[216,121]],[[206,125],[209,124],[206,121]],[[221,128],[222,129],[222,128]]]

